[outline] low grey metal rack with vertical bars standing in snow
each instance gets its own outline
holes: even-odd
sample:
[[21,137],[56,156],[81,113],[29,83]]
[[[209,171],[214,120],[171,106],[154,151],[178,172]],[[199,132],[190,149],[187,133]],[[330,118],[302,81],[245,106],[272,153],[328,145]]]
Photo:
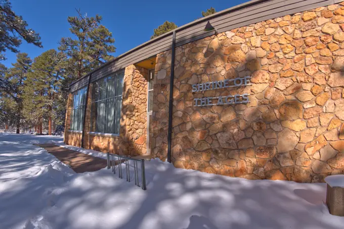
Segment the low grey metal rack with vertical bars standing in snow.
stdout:
[[144,159],[134,159],[131,157],[127,156],[121,156],[118,154],[113,154],[113,153],[107,153],[107,169],[112,168],[113,174],[116,174],[116,166],[115,166],[115,157],[117,157],[117,167],[118,167],[118,177],[120,179],[123,178],[123,171],[122,171],[122,160],[124,159],[125,163],[125,173],[126,173],[126,181],[131,182],[130,180],[130,166],[129,166],[129,161],[132,160],[134,161],[134,179],[135,179],[135,185],[140,187],[140,182],[139,182],[139,168],[138,168],[138,162],[141,162],[141,187],[143,190],[146,190],[146,175],[145,175],[145,160]]

